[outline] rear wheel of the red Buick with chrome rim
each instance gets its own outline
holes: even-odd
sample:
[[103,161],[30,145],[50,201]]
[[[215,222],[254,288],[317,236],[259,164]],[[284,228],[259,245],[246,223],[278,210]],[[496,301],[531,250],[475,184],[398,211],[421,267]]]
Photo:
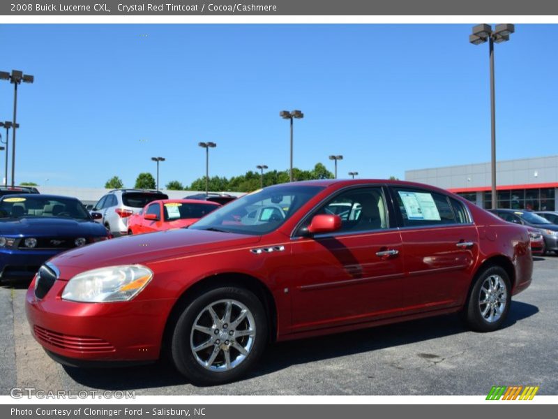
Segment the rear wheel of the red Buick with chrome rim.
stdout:
[[500,266],[489,266],[476,276],[466,307],[472,330],[492,332],[502,327],[511,304],[511,281]]

